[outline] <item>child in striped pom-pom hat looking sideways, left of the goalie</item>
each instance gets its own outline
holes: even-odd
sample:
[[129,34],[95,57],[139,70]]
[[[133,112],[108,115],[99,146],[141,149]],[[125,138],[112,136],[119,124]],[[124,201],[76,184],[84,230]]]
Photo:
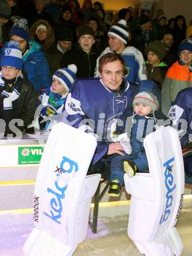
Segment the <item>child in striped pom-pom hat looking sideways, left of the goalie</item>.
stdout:
[[67,68],[56,70],[52,76],[51,87],[40,91],[38,96],[39,104],[42,106],[38,124],[40,130],[52,129],[56,122],[51,120],[51,117],[63,112],[74,79],[76,79],[76,66],[71,64]]

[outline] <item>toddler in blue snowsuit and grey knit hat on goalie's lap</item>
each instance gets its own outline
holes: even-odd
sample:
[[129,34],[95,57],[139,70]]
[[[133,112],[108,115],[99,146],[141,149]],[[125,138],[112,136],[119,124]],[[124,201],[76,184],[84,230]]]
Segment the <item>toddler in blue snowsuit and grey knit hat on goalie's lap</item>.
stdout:
[[170,120],[166,122],[165,120],[168,118],[160,111],[161,93],[154,81],[143,80],[140,82],[133,95],[132,105],[133,117],[131,119],[133,127],[131,128],[130,136],[131,144],[128,137],[119,136],[121,146],[123,146],[127,154],[125,156],[116,155],[111,161],[109,196],[120,196],[125,172],[129,177],[133,177],[136,172],[148,170],[148,160],[143,140],[146,135],[155,131],[158,126],[170,124]]

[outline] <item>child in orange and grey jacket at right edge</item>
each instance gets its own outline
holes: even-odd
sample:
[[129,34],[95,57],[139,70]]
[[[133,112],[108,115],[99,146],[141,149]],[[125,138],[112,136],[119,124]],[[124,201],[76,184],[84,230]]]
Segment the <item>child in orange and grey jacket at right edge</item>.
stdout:
[[185,39],[178,48],[179,59],[168,69],[162,85],[162,111],[167,115],[179,91],[192,87],[192,39]]

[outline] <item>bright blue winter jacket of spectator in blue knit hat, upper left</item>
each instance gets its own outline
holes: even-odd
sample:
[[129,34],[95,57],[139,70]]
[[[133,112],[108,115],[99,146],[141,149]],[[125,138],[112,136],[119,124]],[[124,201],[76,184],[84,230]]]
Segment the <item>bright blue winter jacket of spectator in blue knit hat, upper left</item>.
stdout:
[[24,70],[37,92],[52,84],[48,62],[39,43],[29,41],[29,50],[24,54]]

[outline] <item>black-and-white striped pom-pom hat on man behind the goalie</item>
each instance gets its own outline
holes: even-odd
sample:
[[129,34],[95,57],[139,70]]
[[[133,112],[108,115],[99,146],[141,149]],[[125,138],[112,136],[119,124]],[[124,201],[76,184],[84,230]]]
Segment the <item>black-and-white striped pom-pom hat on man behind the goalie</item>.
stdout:
[[129,38],[129,30],[126,26],[126,20],[120,20],[117,24],[110,27],[108,30],[108,36],[118,37],[125,45]]

